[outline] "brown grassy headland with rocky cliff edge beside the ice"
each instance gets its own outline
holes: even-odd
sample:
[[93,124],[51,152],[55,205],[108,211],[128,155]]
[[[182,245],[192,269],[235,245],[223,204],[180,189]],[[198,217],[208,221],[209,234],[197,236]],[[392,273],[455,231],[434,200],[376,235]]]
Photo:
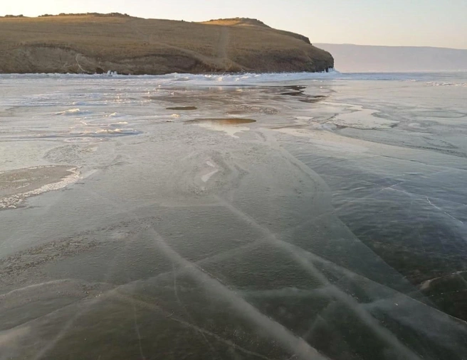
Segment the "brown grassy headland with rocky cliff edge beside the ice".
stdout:
[[[224,21],[224,22],[223,22]],[[0,73],[299,72],[334,67],[308,38],[261,21],[130,16],[0,18]]]

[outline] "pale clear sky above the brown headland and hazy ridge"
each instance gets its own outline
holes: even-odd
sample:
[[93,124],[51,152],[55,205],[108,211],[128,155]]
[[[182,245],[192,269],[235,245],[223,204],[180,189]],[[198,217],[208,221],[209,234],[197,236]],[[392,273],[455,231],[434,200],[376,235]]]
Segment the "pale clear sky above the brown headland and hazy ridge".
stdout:
[[467,0],[11,0],[0,15],[120,12],[143,18],[204,21],[258,18],[312,43],[467,49]]

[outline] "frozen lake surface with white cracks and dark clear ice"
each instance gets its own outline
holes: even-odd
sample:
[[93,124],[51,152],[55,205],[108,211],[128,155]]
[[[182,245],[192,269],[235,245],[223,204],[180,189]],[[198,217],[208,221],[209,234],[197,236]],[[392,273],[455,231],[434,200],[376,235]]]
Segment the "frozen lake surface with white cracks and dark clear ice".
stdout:
[[0,360],[466,359],[466,99],[0,75]]

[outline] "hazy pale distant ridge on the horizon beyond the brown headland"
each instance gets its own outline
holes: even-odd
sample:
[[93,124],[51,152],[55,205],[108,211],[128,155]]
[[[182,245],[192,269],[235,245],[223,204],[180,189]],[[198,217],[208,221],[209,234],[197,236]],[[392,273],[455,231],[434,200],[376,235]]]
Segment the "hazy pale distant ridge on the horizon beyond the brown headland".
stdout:
[[335,58],[341,72],[467,70],[467,50],[414,46],[315,43]]

